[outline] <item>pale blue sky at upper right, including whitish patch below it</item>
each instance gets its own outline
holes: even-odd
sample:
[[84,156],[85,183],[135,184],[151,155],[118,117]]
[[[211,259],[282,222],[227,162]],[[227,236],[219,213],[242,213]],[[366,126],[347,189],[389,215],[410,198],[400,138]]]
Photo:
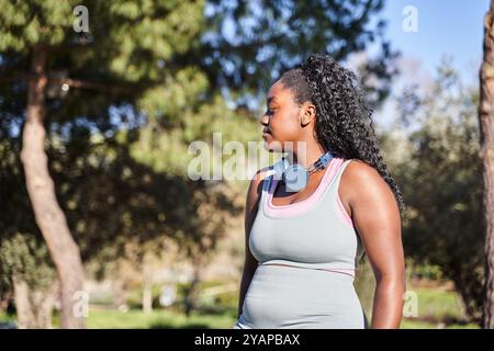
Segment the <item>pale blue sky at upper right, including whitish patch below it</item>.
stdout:
[[[406,7],[416,11],[416,32],[403,30],[411,15],[409,10],[403,13]],[[411,81],[430,87],[444,55],[452,58],[464,83],[479,84],[483,19],[489,8],[490,0],[386,0],[382,12],[388,21],[385,37],[402,53],[402,76],[394,81],[392,92]],[[395,104],[389,99],[373,120],[388,128],[395,115]]]

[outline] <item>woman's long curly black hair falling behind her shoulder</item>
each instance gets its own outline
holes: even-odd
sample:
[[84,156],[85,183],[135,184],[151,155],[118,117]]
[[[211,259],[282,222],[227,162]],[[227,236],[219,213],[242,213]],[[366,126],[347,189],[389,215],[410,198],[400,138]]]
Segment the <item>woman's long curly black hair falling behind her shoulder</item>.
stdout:
[[285,71],[280,81],[292,91],[299,105],[306,101],[315,105],[317,141],[335,155],[373,167],[393,191],[403,216],[403,196],[380,155],[373,111],[366,103],[356,75],[330,56],[313,54]]

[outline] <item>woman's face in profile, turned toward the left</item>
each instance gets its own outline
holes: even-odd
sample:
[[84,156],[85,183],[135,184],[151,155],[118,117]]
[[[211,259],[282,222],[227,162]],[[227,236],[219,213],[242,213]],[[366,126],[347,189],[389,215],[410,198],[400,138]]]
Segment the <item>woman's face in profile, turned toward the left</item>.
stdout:
[[301,113],[290,89],[277,81],[268,92],[267,110],[260,123],[269,151],[290,151],[304,139]]

